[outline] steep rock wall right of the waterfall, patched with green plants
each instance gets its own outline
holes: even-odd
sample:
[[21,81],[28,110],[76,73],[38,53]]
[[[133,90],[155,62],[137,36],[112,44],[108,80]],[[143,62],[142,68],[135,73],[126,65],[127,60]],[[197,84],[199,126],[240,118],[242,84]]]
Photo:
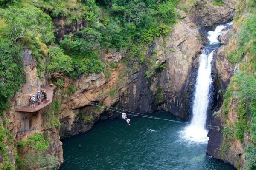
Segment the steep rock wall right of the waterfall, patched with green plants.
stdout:
[[[246,3],[248,3],[248,1]],[[209,130],[207,154],[225,162],[229,162],[238,169],[244,169],[246,162],[244,154],[247,152],[246,147],[253,145],[253,132],[240,131],[240,133],[242,133],[240,137],[238,137],[238,130],[223,128],[224,126],[245,130],[248,128],[250,130],[252,120],[250,112],[247,114],[246,108],[241,108],[239,85],[236,83],[236,79],[239,79],[237,77],[237,73],[240,69],[247,72],[248,75],[251,74],[252,69],[250,68],[250,62],[252,61],[249,61],[248,59],[250,54],[248,54],[248,52],[243,52],[242,59],[236,63],[233,63],[233,65],[228,60],[230,59],[228,55],[232,54],[232,52],[239,48],[237,38],[239,37],[241,29],[243,28],[243,21],[245,18],[250,16],[250,12],[248,12],[246,9],[246,4],[244,6],[240,6],[239,8],[233,27],[219,37],[219,40],[223,45],[218,49],[215,58],[216,74],[218,75],[218,77],[216,77],[216,81],[218,82],[218,103],[215,108],[216,112],[212,116],[211,125],[222,127],[220,127],[220,130]],[[245,67],[239,67],[240,65],[245,65]],[[233,82],[230,82],[230,79],[233,76],[235,79],[233,79]],[[247,82],[242,83],[246,84]],[[230,93],[232,97],[229,97],[228,95],[225,97],[223,96],[226,90],[226,94]],[[245,88],[242,90],[246,91]],[[251,93],[253,93],[253,91],[251,91]],[[250,100],[248,99],[246,103],[250,103]],[[242,116],[241,111],[244,113]],[[239,127],[237,125],[243,116],[245,116],[245,124],[247,125],[246,127]]]

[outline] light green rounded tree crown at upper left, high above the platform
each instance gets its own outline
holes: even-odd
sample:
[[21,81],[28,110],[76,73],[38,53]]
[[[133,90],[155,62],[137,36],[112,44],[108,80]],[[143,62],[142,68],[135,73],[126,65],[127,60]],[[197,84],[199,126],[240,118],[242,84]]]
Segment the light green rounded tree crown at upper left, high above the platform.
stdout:
[[42,42],[53,42],[55,37],[52,31],[51,17],[39,8],[17,8],[10,7],[2,11],[1,15],[9,24],[8,29],[4,31],[5,35],[16,43],[28,33],[39,35]]

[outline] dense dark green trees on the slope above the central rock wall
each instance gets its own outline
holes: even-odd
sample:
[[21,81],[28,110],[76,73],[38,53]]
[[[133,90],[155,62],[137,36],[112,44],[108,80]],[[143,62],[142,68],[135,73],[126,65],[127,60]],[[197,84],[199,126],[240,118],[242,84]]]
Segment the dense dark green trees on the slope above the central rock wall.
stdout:
[[[177,17],[176,0],[163,1],[159,4],[156,0],[101,0],[97,1],[97,4],[93,0],[82,2],[88,7],[87,13],[84,14],[88,27],[66,35],[60,42],[65,53],[73,58],[74,67],[79,65],[79,68],[75,68],[69,74],[74,78],[83,72],[103,70],[104,65],[99,61],[100,48],[124,48],[134,51],[137,44],[146,42],[151,45],[154,37],[169,33],[168,26],[175,23]],[[52,7],[54,8],[54,4]],[[98,13],[99,8],[102,8],[102,14]],[[138,58],[140,63],[144,61],[143,55],[131,55],[132,52],[128,54],[132,58]],[[87,65],[88,62],[94,64]]]

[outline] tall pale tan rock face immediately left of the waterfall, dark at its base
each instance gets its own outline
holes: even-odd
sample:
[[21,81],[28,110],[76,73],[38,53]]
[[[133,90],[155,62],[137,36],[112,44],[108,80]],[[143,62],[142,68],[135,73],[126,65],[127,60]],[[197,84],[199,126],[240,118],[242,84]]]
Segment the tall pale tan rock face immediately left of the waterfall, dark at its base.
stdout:
[[160,37],[155,42],[157,62],[166,62],[166,69],[151,79],[153,94],[159,95],[159,89],[163,91],[164,102],[158,109],[184,119],[188,118],[198,54],[202,47],[199,37],[195,24],[186,17],[173,27],[168,37]]

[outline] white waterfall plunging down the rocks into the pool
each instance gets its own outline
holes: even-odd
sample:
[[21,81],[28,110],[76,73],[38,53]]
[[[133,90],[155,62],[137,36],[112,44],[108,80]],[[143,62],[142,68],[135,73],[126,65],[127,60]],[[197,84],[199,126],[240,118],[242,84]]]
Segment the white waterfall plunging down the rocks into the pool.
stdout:
[[223,34],[223,30],[230,28],[232,22],[219,25],[214,31],[208,32],[209,43],[204,46],[202,54],[199,56],[198,75],[195,84],[195,94],[192,108],[191,124],[180,132],[180,137],[188,142],[207,143],[208,130],[205,128],[207,119],[207,109],[209,105],[210,86],[212,84],[211,70],[214,51],[221,45],[218,36]]

